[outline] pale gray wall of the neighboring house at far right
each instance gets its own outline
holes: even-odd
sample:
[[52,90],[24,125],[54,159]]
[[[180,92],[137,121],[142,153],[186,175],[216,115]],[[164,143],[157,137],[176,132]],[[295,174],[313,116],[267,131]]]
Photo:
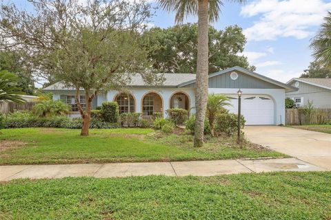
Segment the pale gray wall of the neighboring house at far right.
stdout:
[[[295,81],[291,84],[294,86]],[[299,90],[286,93],[288,98],[303,98],[303,105],[313,101],[317,109],[331,109],[331,90],[299,82]]]

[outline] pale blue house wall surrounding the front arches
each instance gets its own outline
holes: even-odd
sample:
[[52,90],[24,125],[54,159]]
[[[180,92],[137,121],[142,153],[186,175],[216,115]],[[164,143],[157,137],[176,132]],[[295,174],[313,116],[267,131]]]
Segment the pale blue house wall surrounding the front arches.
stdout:
[[[136,102],[136,110],[137,112],[142,112],[142,100],[143,96],[148,94],[149,92],[154,92],[159,94],[163,100],[163,115],[165,115],[165,110],[170,109],[170,98],[172,95],[176,92],[184,92],[185,94],[188,94],[190,98],[190,108],[194,107],[195,103],[195,97],[194,97],[194,89],[192,87],[181,87],[181,88],[155,88],[155,87],[132,87],[130,89],[130,92],[132,96],[137,100]],[[119,92],[118,91],[108,91],[107,93],[107,100],[114,100],[115,96],[117,96]],[[99,103],[99,102],[98,102]],[[194,113],[194,109],[190,110],[190,113]]]

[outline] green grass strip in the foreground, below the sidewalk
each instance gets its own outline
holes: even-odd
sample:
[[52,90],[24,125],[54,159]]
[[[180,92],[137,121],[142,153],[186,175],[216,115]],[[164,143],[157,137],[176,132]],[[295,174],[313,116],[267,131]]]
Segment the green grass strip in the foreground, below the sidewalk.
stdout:
[[330,218],[331,172],[0,184],[0,219]]

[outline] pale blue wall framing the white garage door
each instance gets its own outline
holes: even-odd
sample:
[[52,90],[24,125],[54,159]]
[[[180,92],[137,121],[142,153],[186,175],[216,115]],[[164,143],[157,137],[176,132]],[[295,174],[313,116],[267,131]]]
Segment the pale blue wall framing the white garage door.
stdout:
[[[236,89],[209,88],[210,94],[229,94],[237,95]],[[267,95],[274,101],[274,122],[275,124],[285,124],[285,89],[241,89],[243,94],[248,95]]]

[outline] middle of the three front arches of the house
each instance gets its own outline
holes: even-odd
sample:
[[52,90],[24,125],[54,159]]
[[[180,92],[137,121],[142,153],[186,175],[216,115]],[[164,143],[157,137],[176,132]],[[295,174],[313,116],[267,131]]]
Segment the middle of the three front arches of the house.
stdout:
[[153,116],[156,112],[163,112],[162,97],[154,91],[145,94],[141,100],[141,112],[143,116]]

